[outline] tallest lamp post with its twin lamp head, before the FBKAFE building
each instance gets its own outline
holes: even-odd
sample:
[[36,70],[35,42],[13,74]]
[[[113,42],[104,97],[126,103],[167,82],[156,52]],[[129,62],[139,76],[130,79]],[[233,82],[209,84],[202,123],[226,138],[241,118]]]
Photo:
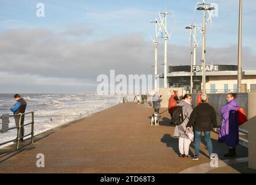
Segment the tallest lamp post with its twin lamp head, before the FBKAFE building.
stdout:
[[199,5],[203,5],[204,7],[200,6],[197,8],[197,10],[203,10],[203,93],[206,93],[206,10],[214,10],[214,7],[210,7],[210,8],[206,8],[206,4],[205,2],[203,2],[202,4]]

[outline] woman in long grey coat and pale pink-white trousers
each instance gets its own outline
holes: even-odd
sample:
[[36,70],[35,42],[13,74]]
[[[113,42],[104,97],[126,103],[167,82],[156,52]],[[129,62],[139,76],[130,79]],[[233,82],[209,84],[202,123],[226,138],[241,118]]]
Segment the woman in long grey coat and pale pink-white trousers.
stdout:
[[190,114],[193,111],[191,102],[191,95],[185,94],[178,104],[178,106],[182,106],[182,114],[184,117],[182,124],[177,125],[174,130],[174,137],[179,138],[178,147],[180,150],[180,157],[191,157],[189,155],[189,145],[191,143],[191,139],[189,139],[189,133],[193,134],[193,128],[186,131],[186,124],[188,124]]

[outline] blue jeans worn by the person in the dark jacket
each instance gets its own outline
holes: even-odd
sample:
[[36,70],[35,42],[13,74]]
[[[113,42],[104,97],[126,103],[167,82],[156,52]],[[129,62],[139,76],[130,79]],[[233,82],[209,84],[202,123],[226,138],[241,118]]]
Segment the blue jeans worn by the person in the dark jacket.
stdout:
[[[204,133],[204,140],[206,141],[207,149],[209,151],[209,156],[213,153],[213,144],[211,143],[211,132],[203,131]],[[195,131],[195,153],[199,155],[199,147],[201,142],[201,135],[202,132]]]

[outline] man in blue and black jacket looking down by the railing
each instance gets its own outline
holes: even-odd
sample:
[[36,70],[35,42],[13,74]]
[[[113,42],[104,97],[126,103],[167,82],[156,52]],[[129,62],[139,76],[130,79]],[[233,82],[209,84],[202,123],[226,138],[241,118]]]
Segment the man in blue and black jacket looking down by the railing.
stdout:
[[[19,114],[19,113],[25,113],[25,109],[27,106],[27,102],[24,101],[23,98],[19,94],[15,94],[13,97],[16,100],[15,105],[10,108],[10,111],[13,112],[13,114]],[[19,127],[19,121],[20,116],[14,116],[16,127]],[[24,125],[24,115],[21,117],[21,125]],[[18,128],[19,131],[19,128]],[[24,136],[24,127],[21,127],[21,133],[20,137]],[[21,142],[23,142],[23,139],[20,139]]]

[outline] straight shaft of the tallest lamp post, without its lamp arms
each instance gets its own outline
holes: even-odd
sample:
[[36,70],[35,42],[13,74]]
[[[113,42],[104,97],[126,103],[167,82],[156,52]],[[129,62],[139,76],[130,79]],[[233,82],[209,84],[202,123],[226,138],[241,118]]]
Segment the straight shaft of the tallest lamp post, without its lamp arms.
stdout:
[[203,92],[206,93],[206,3],[204,3],[204,19],[203,19]]

